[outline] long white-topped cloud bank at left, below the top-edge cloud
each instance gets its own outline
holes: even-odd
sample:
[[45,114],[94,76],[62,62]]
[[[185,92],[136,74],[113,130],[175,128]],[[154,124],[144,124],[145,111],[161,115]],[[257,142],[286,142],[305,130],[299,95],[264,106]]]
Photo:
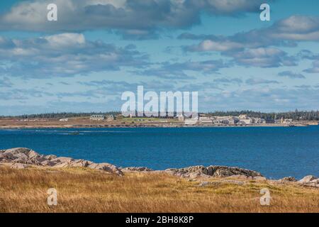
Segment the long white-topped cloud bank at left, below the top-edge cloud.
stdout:
[[11,76],[74,76],[148,64],[147,57],[134,48],[87,41],[78,33],[6,39],[5,42],[11,45],[0,45],[0,62],[7,62],[0,72]]

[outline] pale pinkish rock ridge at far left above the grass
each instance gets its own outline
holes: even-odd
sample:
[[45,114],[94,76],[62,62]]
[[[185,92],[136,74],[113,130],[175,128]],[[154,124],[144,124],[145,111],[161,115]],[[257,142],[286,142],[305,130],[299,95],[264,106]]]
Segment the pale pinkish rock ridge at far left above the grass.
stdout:
[[57,157],[55,155],[40,155],[28,148],[0,150],[0,163],[7,163],[16,169],[24,169],[30,165],[43,167],[87,167],[116,175],[123,175],[123,172],[118,167],[109,163],[94,163],[87,160],[73,159],[72,157]]

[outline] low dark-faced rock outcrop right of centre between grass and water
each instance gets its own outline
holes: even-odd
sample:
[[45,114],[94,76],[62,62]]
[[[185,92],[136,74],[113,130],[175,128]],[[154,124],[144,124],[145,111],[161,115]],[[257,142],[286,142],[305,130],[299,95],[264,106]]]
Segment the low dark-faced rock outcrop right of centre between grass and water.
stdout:
[[211,165],[204,167],[203,165],[186,167],[181,169],[165,170],[172,175],[178,177],[231,177],[235,175],[243,175],[245,177],[262,177],[259,172],[246,170],[239,167],[226,167],[220,165]]

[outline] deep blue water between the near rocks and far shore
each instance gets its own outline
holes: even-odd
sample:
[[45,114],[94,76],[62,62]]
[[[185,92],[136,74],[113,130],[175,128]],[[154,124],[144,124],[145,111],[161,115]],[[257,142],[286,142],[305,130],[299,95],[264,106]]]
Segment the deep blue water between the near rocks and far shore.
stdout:
[[121,167],[227,165],[273,179],[319,176],[319,126],[0,130],[0,149],[16,147]]

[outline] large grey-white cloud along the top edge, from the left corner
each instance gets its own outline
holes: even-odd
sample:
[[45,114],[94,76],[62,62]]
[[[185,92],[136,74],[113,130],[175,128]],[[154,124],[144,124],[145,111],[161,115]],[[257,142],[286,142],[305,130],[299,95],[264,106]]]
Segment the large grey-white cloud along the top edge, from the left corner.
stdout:
[[[58,20],[47,21],[47,4],[57,4]],[[0,15],[1,30],[68,31],[117,29],[126,38],[154,38],[156,29],[186,28],[200,15],[238,16],[259,11],[261,0],[43,0],[23,1]]]

